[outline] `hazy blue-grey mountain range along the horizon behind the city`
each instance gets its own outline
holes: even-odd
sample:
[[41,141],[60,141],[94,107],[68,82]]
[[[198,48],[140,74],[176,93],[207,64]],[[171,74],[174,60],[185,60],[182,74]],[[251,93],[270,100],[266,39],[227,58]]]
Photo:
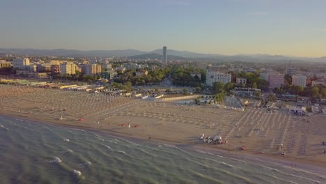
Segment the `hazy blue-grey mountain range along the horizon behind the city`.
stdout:
[[[168,59],[183,60],[192,59],[196,61],[247,61],[247,62],[273,62],[273,61],[313,61],[326,62],[326,56],[320,58],[306,58],[295,56],[281,56],[270,54],[238,54],[226,56],[221,54],[201,54],[196,52],[178,51],[168,49]],[[139,51],[136,49],[118,49],[118,50],[90,50],[80,51],[75,49],[1,49],[0,55],[15,54],[26,56],[72,56],[72,57],[111,57],[125,56],[130,59],[162,59],[162,49],[156,49],[151,52]]]

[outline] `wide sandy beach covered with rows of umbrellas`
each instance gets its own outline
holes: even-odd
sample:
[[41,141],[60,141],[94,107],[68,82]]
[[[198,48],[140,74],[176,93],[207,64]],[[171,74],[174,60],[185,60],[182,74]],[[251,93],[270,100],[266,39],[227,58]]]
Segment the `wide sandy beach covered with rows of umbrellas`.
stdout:
[[[256,108],[257,104],[258,101],[252,100],[240,112],[102,93],[0,86],[0,114],[3,115],[109,131],[210,153],[218,151],[228,157],[268,158],[269,162],[326,174],[323,169],[313,169],[326,167],[323,153],[326,146],[322,144],[326,141],[326,117],[294,116],[286,109],[267,112]],[[228,143],[203,143],[198,139],[202,134],[221,135]],[[241,146],[245,146],[244,151]],[[281,154],[284,151],[286,155]]]

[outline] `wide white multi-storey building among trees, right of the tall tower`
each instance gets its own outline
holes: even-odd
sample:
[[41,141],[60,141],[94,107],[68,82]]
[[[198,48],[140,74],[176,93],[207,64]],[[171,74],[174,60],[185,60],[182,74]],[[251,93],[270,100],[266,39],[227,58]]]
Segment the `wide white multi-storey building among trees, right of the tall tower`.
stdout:
[[224,73],[224,72],[219,72],[217,70],[211,70],[211,68],[208,68],[206,73],[207,73],[206,84],[208,86],[212,86],[215,82],[222,82],[223,84],[231,82],[232,76],[230,73]]

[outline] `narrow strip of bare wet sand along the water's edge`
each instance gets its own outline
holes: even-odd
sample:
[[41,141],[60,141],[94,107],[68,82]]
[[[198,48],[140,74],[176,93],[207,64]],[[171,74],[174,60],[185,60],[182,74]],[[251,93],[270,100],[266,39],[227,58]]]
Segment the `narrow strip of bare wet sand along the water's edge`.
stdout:
[[[290,167],[291,169],[300,169],[307,172],[313,172],[316,174],[321,174],[326,176],[326,162],[316,162],[312,160],[304,160],[299,158],[286,158],[283,156],[277,155],[269,155],[266,153],[256,153],[251,151],[231,151],[231,154],[228,154],[227,148],[218,148],[216,146],[212,147],[209,144],[202,144],[202,143],[194,143],[194,142],[181,142],[181,141],[173,141],[168,139],[157,139],[155,137],[148,137],[145,135],[133,135],[127,132],[118,132],[116,130],[110,129],[100,129],[86,125],[77,125],[77,123],[73,123],[73,121],[60,121],[54,120],[53,118],[45,117],[45,116],[36,116],[33,114],[21,114],[19,112],[10,112],[0,110],[0,116],[9,116],[13,118],[26,118],[29,121],[37,121],[39,123],[49,123],[52,125],[59,125],[64,128],[81,128],[85,130],[95,131],[102,133],[109,133],[110,135],[114,135],[116,137],[123,137],[128,140],[134,141],[137,139],[138,141],[145,141],[154,144],[166,144],[171,146],[177,146],[180,148],[190,149],[196,151],[198,153],[207,153],[210,155],[219,155],[229,159],[237,159],[240,161],[254,161],[257,162],[270,162],[273,164],[277,164],[279,167]],[[325,159],[326,160],[326,159]]]

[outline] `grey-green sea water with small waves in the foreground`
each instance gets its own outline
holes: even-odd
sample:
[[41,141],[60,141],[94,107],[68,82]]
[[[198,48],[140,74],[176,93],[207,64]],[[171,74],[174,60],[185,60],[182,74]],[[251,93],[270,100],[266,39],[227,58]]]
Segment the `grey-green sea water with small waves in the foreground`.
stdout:
[[326,176],[0,116],[0,183],[326,183]]

